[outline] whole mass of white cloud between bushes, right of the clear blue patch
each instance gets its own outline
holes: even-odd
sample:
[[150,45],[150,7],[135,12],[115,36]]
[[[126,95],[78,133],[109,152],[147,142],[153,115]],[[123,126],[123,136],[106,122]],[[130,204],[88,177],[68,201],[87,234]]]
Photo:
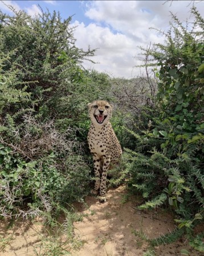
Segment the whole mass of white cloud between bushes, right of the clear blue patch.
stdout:
[[[164,1],[165,2],[165,1]],[[92,59],[96,62],[95,69],[107,71],[116,77],[128,77],[140,73],[133,66],[141,63],[137,58],[140,49],[150,42],[159,43],[164,40],[155,30],[168,30],[170,13],[177,14],[179,20],[190,17],[191,1],[85,1],[85,15],[92,23],[75,22],[76,46],[87,49],[99,48]],[[204,13],[204,5],[198,3],[200,13]],[[85,62],[85,67],[91,66]]]

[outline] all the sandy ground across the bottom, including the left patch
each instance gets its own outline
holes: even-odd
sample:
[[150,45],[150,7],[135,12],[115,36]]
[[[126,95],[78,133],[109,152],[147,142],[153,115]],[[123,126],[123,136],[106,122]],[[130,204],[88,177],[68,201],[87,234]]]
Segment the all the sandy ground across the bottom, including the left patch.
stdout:
[[[87,197],[85,204],[75,204],[77,212],[84,216],[83,221],[74,223],[76,241],[83,247],[78,251],[71,250],[72,256],[143,256],[149,245],[142,237],[156,238],[175,228],[170,213],[159,209],[138,211],[135,209],[138,201],[125,202],[125,194],[125,187],[120,186],[109,189],[106,203]],[[50,243],[47,230],[38,219],[18,221],[9,229],[6,221],[1,221],[0,225],[0,256],[67,255],[58,254],[56,250],[54,254],[55,240]],[[62,248],[70,249],[63,235],[59,239],[65,241],[63,246],[60,243],[61,252]],[[50,250],[49,246],[52,247]],[[193,251],[183,239],[157,246],[154,251],[156,256],[180,256],[181,249],[189,250],[190,256],[204,255]],[[43,253],[44,250],[47,253]]]

